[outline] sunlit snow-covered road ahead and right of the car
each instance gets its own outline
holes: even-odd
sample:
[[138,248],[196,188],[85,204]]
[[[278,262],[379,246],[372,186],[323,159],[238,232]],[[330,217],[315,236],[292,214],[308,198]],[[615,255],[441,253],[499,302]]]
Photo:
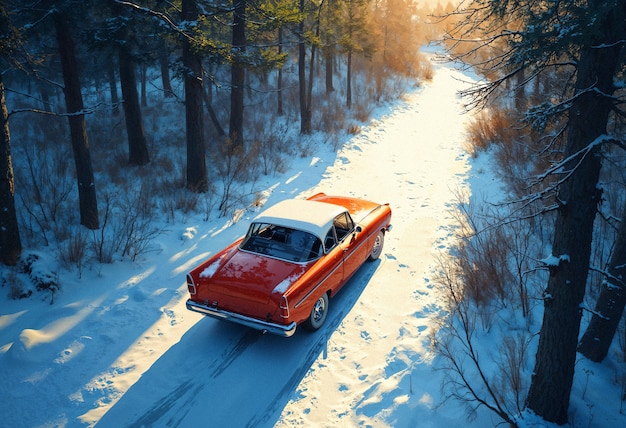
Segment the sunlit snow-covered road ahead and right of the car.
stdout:
[[432,82],[350,140],[312,190],[389,202],[393,230],[380,266],[279,426],[448,427],[463,419],[432,410],[440,380],[429,364],[429,334],[438,311],[431,269],[451,237],[455,193],[467,187],[462,147],[469,116],[457,96],[467,81],[436,68]]

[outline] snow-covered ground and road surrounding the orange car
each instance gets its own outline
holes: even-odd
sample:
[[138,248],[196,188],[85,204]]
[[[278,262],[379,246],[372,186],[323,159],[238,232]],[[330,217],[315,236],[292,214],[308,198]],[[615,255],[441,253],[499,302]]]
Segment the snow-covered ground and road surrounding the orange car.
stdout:
[[[481,409],[468,422],[462,405],[442,402],[443,375],[433,371],[430,337],[441,307],[432,277],[436,259],[453,242],[450,210],[460,190],[482,195],[498,187],[489,161],[473,161],[462,149],[470,115],[463,114],[457,93],[472,76],[433,66],[432,82],[380,107],[338,152],[319,137],[319,152],[261,183],[266,207],[325,192],[388,202],[393,209],[383,255],[331,299],[321,330],[261,335],[185,308],[185,274],[245,234],[258,211],[239,212],[239,221],[198,215],[169,225],[157,239],[160,251],[134,263],[98,265],[79,275],[47,258],[61,284],[53,304],[34,297],[39,294],[0,300],[2,425],[498,423]],[[590,368],[587,379],[575,380],[575,391],[587,384],[589,395],[619,388],[592,389],[611,374],[602,377],[607,368],[581,364]],[[572,406],[583,420],[590,410],[576,397]],[[624,426],[614,402],[594,403],[593,426]],[[615,417],[602,419],[608,414]],[[530,415],[526,420],[546,425]]]

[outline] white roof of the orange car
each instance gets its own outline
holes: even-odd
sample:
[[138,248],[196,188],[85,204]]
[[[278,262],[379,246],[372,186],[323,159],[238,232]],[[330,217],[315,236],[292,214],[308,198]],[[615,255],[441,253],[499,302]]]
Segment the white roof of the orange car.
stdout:
[[286,199],[263,211],[253,222],[303,230],[324,241],[333,219],[346,211],[345,207],[325,202]]

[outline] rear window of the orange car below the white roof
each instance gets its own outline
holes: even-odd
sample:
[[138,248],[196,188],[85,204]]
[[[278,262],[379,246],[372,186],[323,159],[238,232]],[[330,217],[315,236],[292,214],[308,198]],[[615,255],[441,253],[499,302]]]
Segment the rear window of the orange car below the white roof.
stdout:
[[241,249],[291,262],[307,262],[322,254],[322,241],[302,230],[252,223]]

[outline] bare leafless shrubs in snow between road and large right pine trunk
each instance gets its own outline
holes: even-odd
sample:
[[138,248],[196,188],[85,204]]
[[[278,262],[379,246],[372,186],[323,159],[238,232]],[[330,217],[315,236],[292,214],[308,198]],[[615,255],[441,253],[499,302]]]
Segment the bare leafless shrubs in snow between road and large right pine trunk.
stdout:
[[[445,309],[432,338],[440,357],[436,368],[444,373],[444,397],[465,403],[470,418],[485,406],[515,426],[528,387],[532,337],[520,328],[530,322],[524,309],[528,302],[521,302],[527,299],[531,270],[528,240],[519,239],[526,225],[502,226],[494,213],[473,212],[468,203],[460,203],[456,215],[458,244],[449,257],[440,258],[434,278]],[[496,346],[481,345],[500,334],[503,340]]]

